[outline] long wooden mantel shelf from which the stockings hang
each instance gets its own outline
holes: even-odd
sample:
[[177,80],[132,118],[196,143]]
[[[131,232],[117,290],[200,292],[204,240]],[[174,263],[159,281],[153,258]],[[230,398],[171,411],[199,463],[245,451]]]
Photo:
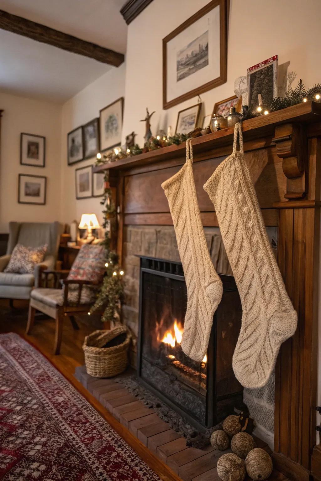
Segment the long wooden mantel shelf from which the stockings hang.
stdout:
[[[274,136],[274,128],[278,125],[286,123],[320,122],[321,103],[308,101],[300,103],[292,107],[288,107],[268,115],[261,115],[253,119],[243,122],[244,141],[257,139],[259,137]],[[194,153],[203,152],[218,147],[230,145],[233,142],[234,128],[229,127],[218,132],[203,135],[193,139]],[[185,156],[185,142],[180,145],[169,145],[151,152],[145,152],[140,155],[119,159],[115,162],[97,165],[94,172],[103,172],[104,170],[125,170],[141,165],[153,164],[154,162],[172,159],[174,157]]]

